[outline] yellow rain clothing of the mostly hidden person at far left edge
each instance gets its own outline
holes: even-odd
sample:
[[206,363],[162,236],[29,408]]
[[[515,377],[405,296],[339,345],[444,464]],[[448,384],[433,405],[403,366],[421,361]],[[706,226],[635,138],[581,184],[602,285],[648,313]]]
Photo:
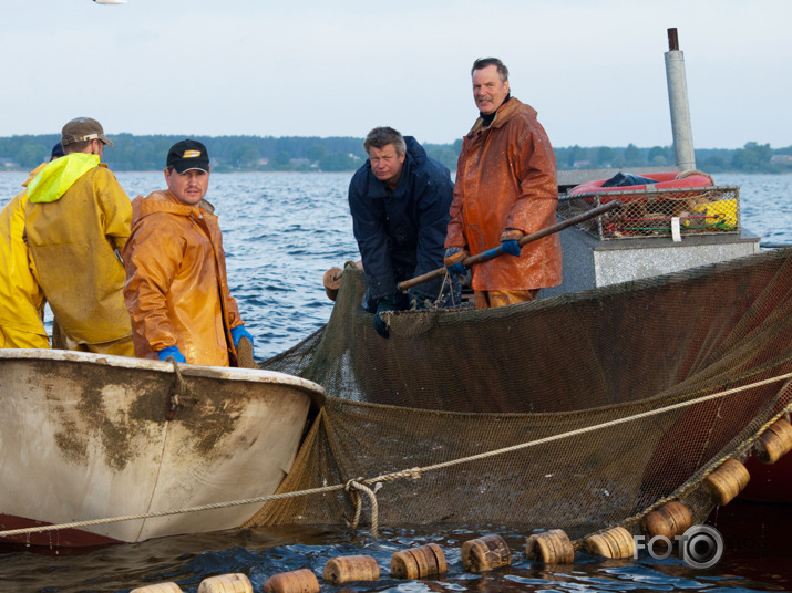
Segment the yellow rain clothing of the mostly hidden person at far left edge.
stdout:
[[[47,163],[42,163],[33,169],[22,187],[27,188],[45,166]],[[0,327],[31,334],[25,342],[32,341],[32,347],[48,348],[50,341],[41,321],[44,293],[33,275],[30,252],[22,238],[27,204],[25,189],[0,211],[0,258],[3,262],[0,268]],[[16,345],[13,340],[8,340],[6,347],[22,345]]]

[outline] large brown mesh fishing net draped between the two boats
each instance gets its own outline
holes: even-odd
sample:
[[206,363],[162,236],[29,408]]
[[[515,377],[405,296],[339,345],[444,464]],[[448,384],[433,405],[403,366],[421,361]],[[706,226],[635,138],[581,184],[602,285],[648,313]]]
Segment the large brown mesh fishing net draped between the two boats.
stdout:
[[[388,340],[363,291],[348,266],[327,325],[263,366],[330,395],[280,492],[420,469],[378,480],[380,524],[582,537],[635,530],[671,499],[703,520],[702,479],[744,460],[792,402],[779,378],[792,373],[792,249],[507,308],[394,313]],[[342,524],[352,499],[287,498],[249,524]]]

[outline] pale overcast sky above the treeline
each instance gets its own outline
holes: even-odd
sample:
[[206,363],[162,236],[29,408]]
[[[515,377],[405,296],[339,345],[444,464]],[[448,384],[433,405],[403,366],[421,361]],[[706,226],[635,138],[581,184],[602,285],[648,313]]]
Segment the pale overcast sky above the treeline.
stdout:
[[671,144],[677,28],[697,148],[792,145],[792,0],[0,0],[0,136],[356,136],[452,143],[501,58],[553,145]]

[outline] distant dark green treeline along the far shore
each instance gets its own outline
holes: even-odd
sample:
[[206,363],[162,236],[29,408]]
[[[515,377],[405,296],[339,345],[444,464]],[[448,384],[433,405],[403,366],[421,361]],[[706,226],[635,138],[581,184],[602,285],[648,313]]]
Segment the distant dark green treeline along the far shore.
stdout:
[[[167,149],[184,136],[133,136],[113,134],[115,146],[104,162],[117,171],[162,170]],[[206,144],[216,171],[351,171],[366,160],[363,138],[305,136],[193,136]],[[47,160],[58,135],[0,138],[0,170],[30,170]],[[452,171],[462,139],[453,144],[424,144],[429,155]],[[555,148],[559,169],[608,167],[661,167],[676,163],[671,146],[639,148],[569,146]],[[772,149],[749,142],[742,148],[696,150],[697,168],[707,173],[790,173],[792,146]]]

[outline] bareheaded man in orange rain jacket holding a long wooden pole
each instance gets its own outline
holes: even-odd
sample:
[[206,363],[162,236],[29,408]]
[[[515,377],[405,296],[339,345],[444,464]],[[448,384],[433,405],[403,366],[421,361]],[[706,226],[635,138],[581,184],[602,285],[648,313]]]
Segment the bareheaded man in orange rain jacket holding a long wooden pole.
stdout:
[[444,263],[464,274],[471,253],[502,246],[503,256],[472,270],[476,309],[533,301],[539,289],[560,284],[557,233],[518,245],[556,222],[555,155],[536,111],[511,96],[501,60],[476,60],[471,75],[480,117],[462,142]]

